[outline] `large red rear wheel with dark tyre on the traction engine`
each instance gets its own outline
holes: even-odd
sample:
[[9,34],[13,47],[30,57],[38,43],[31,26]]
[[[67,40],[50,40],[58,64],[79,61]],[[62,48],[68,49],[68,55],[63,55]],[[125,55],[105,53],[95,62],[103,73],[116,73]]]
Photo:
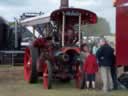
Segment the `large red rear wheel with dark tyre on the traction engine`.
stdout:
[[26,48],[24,56],[24,79],[29,83],[35,83],[37,81],[37,58],[38,50],[36,48]]

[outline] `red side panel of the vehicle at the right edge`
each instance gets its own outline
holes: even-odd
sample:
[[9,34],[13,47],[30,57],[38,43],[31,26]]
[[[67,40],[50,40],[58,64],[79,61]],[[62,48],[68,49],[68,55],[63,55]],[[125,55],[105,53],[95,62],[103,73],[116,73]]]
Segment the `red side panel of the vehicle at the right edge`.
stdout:
[[[126,0],[128,2],[128,0]],[[128,66],[128,6],[116,8],[116,61]]]

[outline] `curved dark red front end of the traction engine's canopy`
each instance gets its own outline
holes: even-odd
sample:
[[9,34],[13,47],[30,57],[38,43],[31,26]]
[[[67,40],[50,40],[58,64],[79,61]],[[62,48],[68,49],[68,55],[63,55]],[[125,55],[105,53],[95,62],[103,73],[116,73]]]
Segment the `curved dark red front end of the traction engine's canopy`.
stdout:
[[78,8],[63,8],[63,9],[55,10],[51,13],[50,18],[53,21],[60,21],[62,20],[63,13],[69,18],[74,18],[74,20],[72,21],[74,23],[78,22],[77,18],[80,14],[81,14],[81,21],[83,24],[86,23],[94,24],[97,22],[97,16],[95,13]]

